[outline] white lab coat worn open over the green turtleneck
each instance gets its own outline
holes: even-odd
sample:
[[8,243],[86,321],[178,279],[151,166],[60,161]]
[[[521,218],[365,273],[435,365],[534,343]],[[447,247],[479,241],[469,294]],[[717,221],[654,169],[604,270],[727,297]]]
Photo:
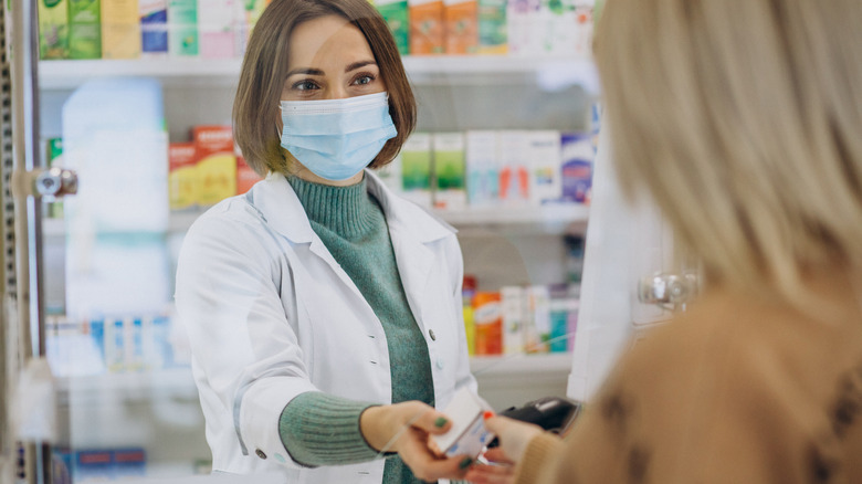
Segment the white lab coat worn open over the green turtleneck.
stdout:
[[[442,409],[458,388],[476,387],[454,229],[393,196],[371,171],[365,176],[386,214]],[[282,409],[306,391],[391,401],[382,325],[283,176],[269,176],[192,224],[179,255],[176,303],[191,341],[213,470],[280,471],[291,483],[381,482],[382,460],[305,469],[278,438]]]

